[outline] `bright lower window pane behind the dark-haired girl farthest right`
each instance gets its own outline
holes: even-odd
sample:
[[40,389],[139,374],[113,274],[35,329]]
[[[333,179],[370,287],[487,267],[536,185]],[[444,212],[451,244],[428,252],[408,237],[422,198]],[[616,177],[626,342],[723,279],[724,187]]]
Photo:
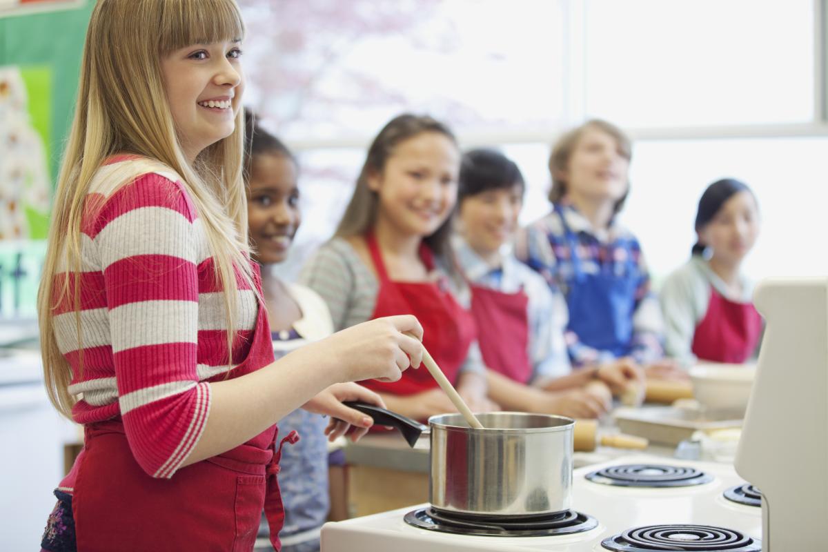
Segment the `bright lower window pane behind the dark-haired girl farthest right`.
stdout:
[[638,142],[623,220],[658,280],[690,256],[696,206],[720,178],[756,194],[762,227],[745,270],[767,276],[828,274],[828,137]]

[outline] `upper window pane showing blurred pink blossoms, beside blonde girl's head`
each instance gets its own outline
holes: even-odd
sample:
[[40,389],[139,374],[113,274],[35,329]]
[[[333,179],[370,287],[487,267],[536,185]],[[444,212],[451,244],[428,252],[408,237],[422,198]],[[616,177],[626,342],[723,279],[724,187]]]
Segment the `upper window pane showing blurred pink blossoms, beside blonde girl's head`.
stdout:
[[294,142],[364,138],[405,111],[546,131],[565,110],[562,5],[248,0],[248,105]]

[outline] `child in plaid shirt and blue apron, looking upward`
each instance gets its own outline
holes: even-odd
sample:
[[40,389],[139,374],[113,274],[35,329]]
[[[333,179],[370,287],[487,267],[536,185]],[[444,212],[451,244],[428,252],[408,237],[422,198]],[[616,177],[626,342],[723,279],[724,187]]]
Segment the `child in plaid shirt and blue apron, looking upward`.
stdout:
[[641,247],[615,219],[629,191],[631,156],[628,137],[609,122],[566,132],[549,160],[554,209],[518,236],[516,254],[566,295],[576,367],[614,365],[629,378],[640,367],[669,375]]

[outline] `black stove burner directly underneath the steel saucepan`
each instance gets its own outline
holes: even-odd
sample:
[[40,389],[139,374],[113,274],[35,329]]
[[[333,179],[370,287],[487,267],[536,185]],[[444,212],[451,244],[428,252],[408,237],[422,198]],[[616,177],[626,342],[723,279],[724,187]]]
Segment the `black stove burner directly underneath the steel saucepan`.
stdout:
[[474,516],[420,508],[405,516],[410,526],[421,529],[477,536],[549,536],[581,533],[598,526],[594,517],[567,510],[544,516]]

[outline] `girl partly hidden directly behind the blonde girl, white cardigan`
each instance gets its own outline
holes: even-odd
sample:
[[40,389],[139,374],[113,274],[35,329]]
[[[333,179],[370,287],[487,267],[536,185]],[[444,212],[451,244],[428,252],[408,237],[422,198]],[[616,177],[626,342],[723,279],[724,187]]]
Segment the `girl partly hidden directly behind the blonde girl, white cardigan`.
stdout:
[[[334,326],[319,295],[305,286],[280,281],[270,270],[286,259],[301,223],[298,166],[291,151],[277,137],[255,124],[250,111],[244,119],[244,172],[252,255],[262,267],[262,293],[271,323],[273,353],[282,358],[306,343],[333,334]],[[285,525],[279,535],[283,552],[320,549],[320,529],[330,506],[326,425],[324,416],[302,409],[279,420],[284,434],[291,430],[301,434],[298,443],[282,449],[278,479],[285,506]],[[262,529],[267,530],[264,519]]]

